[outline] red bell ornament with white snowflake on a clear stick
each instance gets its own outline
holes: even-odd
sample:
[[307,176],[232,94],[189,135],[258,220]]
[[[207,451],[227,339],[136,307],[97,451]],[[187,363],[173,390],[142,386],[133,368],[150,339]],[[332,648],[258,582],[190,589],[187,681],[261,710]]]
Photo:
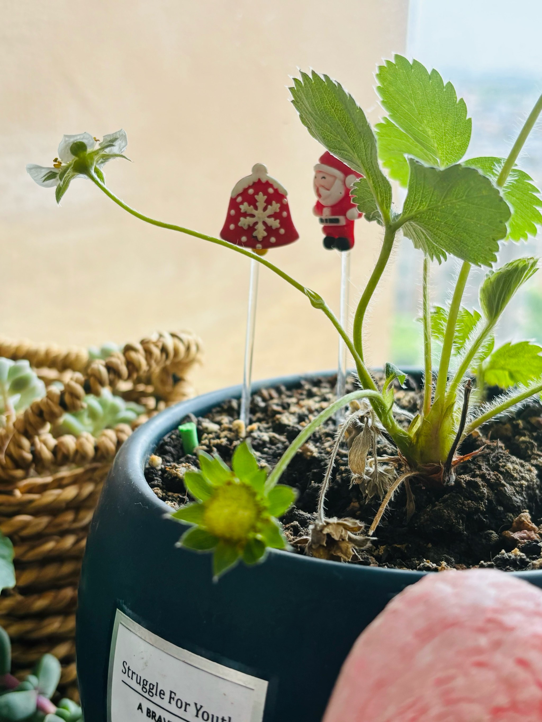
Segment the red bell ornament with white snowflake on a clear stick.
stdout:
[[231,191],[228,215],[220,238],[263,256],[269,248],[293,243],[299,238],[288,207],[288,193],[275,178],[267,175],[262,163],[241,178]]

